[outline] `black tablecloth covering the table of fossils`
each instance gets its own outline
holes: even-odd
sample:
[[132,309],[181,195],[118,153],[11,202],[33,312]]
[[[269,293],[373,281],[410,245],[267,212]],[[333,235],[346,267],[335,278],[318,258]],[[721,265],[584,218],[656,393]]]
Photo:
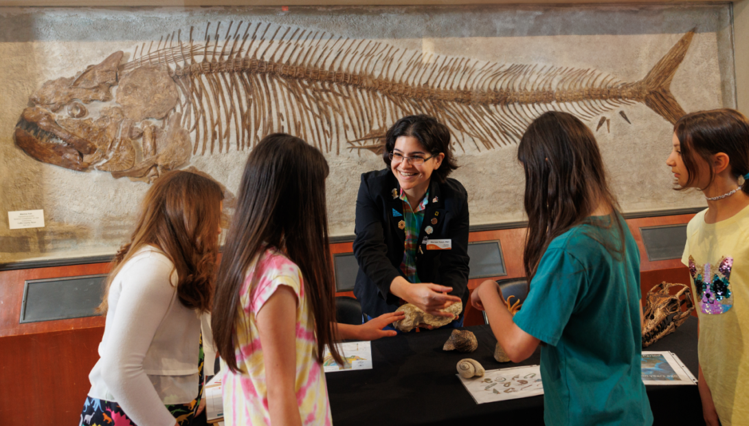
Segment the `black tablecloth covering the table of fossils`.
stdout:
[[[494,361],[497,339],[489,326],[466,327],[479,340],[473,353],[446,352],[451,329],[372,342],[372,370],[325,374],[333,425],[542,425],[543,396],[476,404],[455,365],[473,358],[487,370],[540,363],[540,347],[518,364]],[[645,350],[670,350],[697,377],[697,319]],[[655,425],[704,425],[697,386],[647,386]]]

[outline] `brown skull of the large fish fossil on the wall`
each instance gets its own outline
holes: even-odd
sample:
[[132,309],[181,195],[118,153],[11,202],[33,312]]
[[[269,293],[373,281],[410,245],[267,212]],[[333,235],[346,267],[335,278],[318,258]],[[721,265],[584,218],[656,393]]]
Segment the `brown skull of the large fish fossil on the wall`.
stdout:
[[122,57],[115,52],[79,76],[46,82],[22,112],[16,144],[42,162],[133,180],[185,165],[192,142],[175,111],[175,82],[158,65],[120,75]]

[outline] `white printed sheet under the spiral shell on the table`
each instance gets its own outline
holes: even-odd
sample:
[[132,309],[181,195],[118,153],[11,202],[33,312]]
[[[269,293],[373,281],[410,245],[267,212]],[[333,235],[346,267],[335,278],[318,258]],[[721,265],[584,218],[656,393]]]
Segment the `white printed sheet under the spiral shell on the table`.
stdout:
[[489,370],[482,377],[456,374],[476,404],[544,395],[539,365]]

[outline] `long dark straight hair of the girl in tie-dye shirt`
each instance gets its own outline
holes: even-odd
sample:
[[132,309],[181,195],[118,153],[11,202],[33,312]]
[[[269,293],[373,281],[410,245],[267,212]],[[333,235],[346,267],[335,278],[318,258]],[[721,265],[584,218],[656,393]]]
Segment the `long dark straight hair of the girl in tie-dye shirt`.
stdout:
[[231,371],[239,370],[234,333],[242,329],[249,332],[246,323],[240,323],[240,290],[252,261],[269,248],[283,252],[302,272],[304,292],[315,318],[318,362],[323,362],[327,344],[342,365],[333,344],[336,289],[325,207],[328,171],[327,161],[317,148],[283,133],[264,137],[247,158],[211,315],[213,340]]

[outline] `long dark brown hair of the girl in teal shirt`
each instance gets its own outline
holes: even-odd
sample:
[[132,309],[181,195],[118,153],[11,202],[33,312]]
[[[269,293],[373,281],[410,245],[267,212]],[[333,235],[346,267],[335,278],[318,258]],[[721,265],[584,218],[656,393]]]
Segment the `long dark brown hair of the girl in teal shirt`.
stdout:
[[566,112],[546,112],[521,138],[518,159],[525,170],[528,233],[523,263],[528,282],[536,275],[551,240],[585,222],[601,201],[611,207],[610,225],[615,223],[619,228],[620,244],[591,237],[612,255],[624,255],[619,206],[606,183],[595,137],[582,121]]

